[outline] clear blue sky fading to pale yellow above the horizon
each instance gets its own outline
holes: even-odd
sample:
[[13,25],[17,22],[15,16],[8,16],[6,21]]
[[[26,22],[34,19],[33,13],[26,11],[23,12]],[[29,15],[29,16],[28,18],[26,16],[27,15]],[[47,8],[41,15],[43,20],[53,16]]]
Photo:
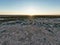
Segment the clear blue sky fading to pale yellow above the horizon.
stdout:
[[0,14],[60,14],[60,0],[0,0]]

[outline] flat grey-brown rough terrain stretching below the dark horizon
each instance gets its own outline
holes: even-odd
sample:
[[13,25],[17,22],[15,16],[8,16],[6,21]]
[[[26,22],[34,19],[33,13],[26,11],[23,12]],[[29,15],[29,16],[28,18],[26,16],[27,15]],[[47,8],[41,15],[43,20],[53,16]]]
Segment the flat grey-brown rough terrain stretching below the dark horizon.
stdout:
[[0,45],[60,45],[60,17],[0,16]]

